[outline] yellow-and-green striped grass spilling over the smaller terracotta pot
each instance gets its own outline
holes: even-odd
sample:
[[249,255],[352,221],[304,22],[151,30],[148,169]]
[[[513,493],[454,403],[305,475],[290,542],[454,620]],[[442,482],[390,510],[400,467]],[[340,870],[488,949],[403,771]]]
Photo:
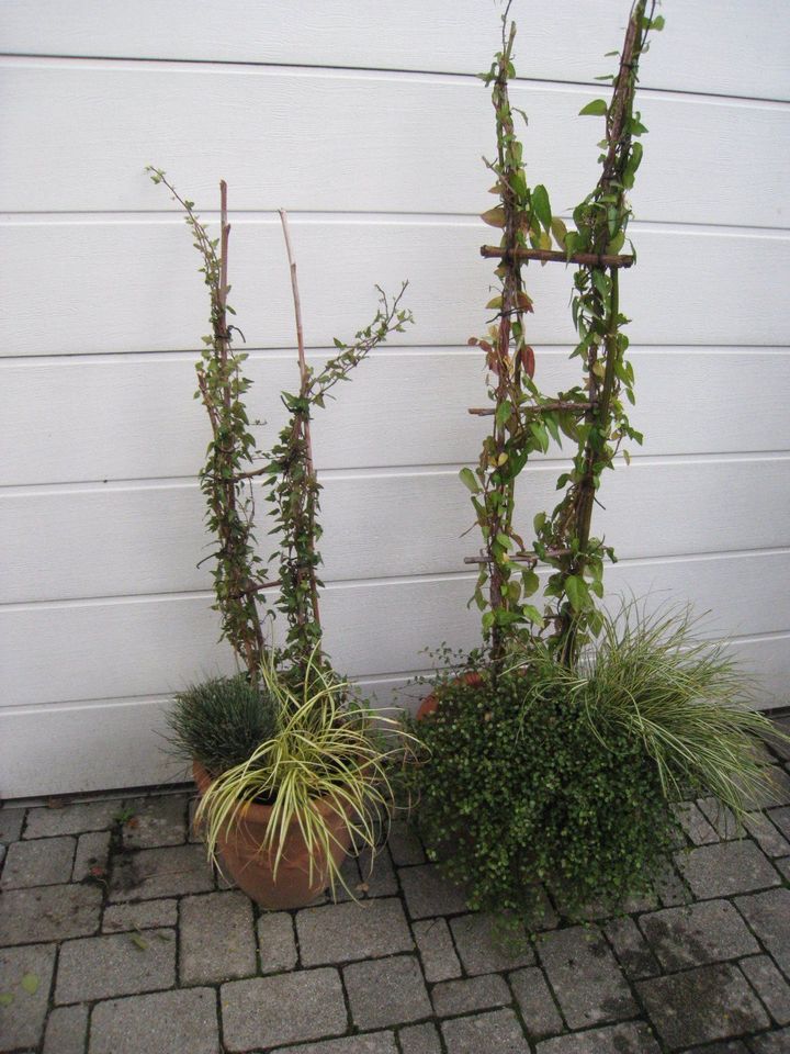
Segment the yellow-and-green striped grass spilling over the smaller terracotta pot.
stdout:
[[410,737],[380,711],[349,705],[348,683],[326,669],[318,644],[298,686],[282,676],[271,654],[261,665],[261,682],[274,703],[275,729],[201,798],[195,823],[203,829],[208,856],[218,864],[223,833],[244,822],[251,803],[270,801],[261,852],[271,855],[274,876],[287,832],[297,825],[309,853],[311,882],[314,861],[324,857],[332,889],[337,883],[345,886],[331,853],[331,821],[316,803],[345,816],[357,850],[369,848],[374,854],[382,817],[393,806],[391,773],[408,752]]

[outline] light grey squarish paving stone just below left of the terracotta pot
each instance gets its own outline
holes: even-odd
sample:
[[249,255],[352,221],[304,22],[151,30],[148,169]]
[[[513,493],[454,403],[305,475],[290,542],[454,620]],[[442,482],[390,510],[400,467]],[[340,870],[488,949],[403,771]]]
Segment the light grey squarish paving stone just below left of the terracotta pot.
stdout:
[[179,921],[182,985],[219,984],[258,972],[252,901],[244,893],[184,897]]

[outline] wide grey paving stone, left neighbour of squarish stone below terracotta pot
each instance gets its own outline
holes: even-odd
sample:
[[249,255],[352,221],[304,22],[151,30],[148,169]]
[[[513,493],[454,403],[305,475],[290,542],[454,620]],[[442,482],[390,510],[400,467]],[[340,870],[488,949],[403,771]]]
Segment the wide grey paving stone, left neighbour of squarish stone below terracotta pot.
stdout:
[[[143,946],[145,945],[145,946]],[[87,1002],[170,988],[176,983],[176,932],[146,930],[67,941],[60,948],[55,1002]]]

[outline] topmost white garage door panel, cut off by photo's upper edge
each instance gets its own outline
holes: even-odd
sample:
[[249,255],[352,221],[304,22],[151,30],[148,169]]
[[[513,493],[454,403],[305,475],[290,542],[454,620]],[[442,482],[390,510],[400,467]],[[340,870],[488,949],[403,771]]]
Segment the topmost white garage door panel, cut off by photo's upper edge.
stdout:
[[[286,13],[287,12],[287,13]],[[641,71],[651,88],[790,99],[787,8],[772,0],[664,0],[667,23]],[[119,56],[216,63],[435,69],[476,74],[500,46],[497,11],[479,0],[4,0],[3,47],[26,55]],[[516,61],[537,80],[592,80],[622,44],[622,0],[515,4]],[[295,24],[301,31],[295,33]],[[700,60],[703,56],[704,60]]]

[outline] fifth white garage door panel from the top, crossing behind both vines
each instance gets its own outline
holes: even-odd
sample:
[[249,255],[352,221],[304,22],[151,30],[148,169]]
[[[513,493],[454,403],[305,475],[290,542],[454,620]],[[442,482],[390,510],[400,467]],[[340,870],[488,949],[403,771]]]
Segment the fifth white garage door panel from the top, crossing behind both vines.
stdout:
[[[556,502],[561,468],[519,481],[517,527],[532,537],[537,512]],[[780,548],[788,542],[790,457],[634,461],[607,473],[592,529],[622,559]],[[464,570],[479,536],[454,470],[324,478],[326,581]],[[267,505],[259,498],[261,517]],[[196,483],[7,491],[3,603],[181,593],[211,585],[210,538]],[[274,548],[259,522],[261,554]],[[528,542],[529,543],[529,542]]]

